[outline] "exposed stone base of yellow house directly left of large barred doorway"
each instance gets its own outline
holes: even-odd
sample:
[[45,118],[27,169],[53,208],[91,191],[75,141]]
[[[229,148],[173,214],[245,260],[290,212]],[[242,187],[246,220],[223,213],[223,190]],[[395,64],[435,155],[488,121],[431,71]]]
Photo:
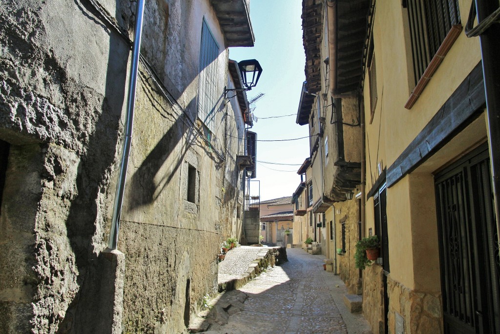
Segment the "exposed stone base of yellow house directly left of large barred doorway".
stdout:
[[441,295],[411,290],[387,279],[389,332],[394,332],[395,312],[404,319],[404,333],[442,333]]

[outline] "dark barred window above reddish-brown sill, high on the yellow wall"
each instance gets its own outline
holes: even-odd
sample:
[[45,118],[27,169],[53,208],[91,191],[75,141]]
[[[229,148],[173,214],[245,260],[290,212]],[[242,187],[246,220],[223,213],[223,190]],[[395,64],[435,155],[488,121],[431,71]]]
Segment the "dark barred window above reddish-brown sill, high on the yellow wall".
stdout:
[[403,0],[407,8],[415,84],[453,25],[460,23],[458,0]]

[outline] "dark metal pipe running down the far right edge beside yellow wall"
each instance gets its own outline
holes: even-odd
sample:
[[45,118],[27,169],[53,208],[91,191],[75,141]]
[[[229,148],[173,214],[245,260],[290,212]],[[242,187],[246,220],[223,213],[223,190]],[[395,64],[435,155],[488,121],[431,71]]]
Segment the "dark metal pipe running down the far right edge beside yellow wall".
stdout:
[[[477,22],[498,9],[498,0],[475,0]],[[491,164],[496,233],[500,235],[500,25],[492,24],[479,35],[481,45],[482,74],[486,96],[488,145]],[[499,241],[500,242],[500,241]]]

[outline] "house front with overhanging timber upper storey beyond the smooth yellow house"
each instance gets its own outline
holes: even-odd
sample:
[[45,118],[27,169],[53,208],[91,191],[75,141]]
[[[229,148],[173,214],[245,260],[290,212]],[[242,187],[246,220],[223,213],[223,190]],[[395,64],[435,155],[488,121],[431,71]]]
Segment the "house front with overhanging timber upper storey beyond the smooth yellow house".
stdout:
[[[333,270],[340,274],[349,293],[359,293],[361,280],[353,263],[360,232],[362,150],[360,104],[352,87],[360,81],[360,74],[355,73],[356,70],[361,73],[362,53],[347,50],[348,57],[343,59],[342,54],[337,57],[332,52],[328,4],[316,0],[302,2],[306,81],[302,85],[296,123],[307,125],[310,135],[310,177],[305,186],[309,191],[310,237],[320,244],[321,253],[333,260]],[[354,12],[362,9],[358,3],[352,5]],[[358,21],[354,17],[350,24]],[[347,31],[345,40],[361,46],[358,35],[350,36]],[[337,62],[352,66],[341,75],[343,81],[335,77],[343,68]],[[341,85],[354,93],[339,94]]]

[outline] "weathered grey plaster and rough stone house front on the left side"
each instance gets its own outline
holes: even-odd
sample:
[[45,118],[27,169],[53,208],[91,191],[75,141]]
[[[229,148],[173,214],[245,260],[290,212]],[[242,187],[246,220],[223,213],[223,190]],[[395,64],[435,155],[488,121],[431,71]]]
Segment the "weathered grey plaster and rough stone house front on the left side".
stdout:
[[[106,250],[135,6],[0,8],[0,331],[187,332],[239,238],[248,2],[146,2],[118,251]],[[229,14],[228,13],[232,13]],[[232,15],[232,16],[231,16]],[[239,203],[239,204],[238,204]]]

